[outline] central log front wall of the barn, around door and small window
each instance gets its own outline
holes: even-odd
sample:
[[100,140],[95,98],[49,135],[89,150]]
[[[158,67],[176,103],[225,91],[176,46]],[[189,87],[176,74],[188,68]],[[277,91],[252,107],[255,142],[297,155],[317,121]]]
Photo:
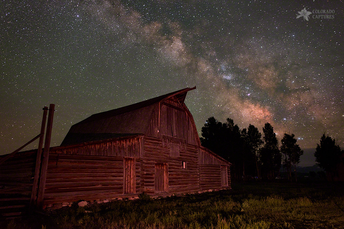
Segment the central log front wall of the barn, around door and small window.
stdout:
[[[175,138],[173,142],[177,141]],[[182,162],[186,168],[182,168]],[[144,155],[142,161],[142,182],[144,191],[150,195],[163,195],[155,190],[155,164],[168,164],[168,193],[182,194],[199,190],[199,169],[197,146],[186,144],[180,150],[179,157],[170,157],[170,145],[163,144],[162,139],[144,137]]]

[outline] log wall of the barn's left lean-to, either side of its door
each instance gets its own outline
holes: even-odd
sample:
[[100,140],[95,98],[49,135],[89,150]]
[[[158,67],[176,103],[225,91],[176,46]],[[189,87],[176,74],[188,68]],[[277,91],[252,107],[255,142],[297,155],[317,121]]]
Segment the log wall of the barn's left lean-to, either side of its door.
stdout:
[[[123,194],[123,157],[50,154],[44,204],[101,200]],[[141,160],[135,159],[136,192]]]

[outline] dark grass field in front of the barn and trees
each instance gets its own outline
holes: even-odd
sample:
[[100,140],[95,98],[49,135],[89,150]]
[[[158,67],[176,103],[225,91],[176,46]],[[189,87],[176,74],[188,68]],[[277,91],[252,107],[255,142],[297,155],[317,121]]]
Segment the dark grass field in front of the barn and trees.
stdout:
[[[146,198],[144,198],[146,197]],[[237,183],[232,190],[70,207],[4,228],[344,228],[344,185]]]

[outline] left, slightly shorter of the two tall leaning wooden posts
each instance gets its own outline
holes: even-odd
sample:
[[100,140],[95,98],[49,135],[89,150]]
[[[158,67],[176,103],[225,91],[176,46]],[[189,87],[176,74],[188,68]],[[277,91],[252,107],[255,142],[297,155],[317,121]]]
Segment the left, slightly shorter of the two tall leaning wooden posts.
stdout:
[[40,171],[41,171],[42,147],[43,147],[44,130],[45,130],[47,112],[48,112],[48,107],[44,106],[43,119],[42,119],[42,125],[41,125],[41,137],[40,137],[40,142],[38,144],[37,157],[36,157],[35,178],[33,180],[32,192],[31,192],[31,200],[30,200],[31,210],[33,210],[36,207],[35,201],[37,197],[38,179],[40,178]]

